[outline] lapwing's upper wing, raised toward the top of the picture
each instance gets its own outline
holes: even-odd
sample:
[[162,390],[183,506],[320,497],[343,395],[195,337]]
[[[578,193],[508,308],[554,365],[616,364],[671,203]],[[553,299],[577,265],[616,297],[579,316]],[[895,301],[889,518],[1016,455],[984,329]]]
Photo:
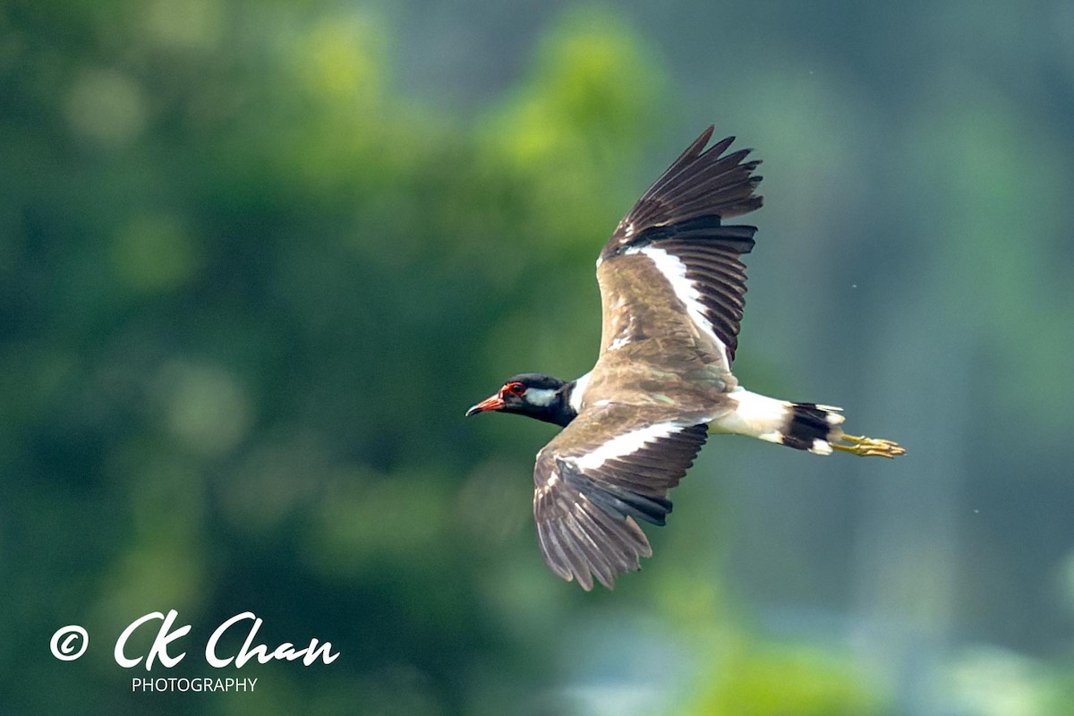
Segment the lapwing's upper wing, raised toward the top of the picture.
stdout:
[[745,265],[755,227],[723,219],[761,205],[760,181],[744,161],[749,149],[723,152],[735,137],[708,149],[707,129],[642,194],[600,252],[604,304],[601,352],[687,330],[730,371],[745,306]]

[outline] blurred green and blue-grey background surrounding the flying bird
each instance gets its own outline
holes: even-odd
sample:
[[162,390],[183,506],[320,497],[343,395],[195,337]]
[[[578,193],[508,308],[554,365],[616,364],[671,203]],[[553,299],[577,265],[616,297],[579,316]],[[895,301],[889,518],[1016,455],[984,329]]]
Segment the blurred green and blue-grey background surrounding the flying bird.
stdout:
[[[0,714],[1074,714],[1072,116],[1065,0],[0,2]],[[737,372],[909,455],[714,438],[584,594],[462,414],[709,123]],[[170,609],[256,692],[131,693]],[[342,656],[209,668],[247,610]]]

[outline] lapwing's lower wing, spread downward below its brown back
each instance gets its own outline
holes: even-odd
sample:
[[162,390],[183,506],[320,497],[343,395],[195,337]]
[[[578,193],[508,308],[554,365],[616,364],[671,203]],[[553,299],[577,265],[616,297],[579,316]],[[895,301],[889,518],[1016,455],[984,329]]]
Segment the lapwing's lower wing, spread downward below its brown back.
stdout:
[[652,547],[638,521],[663,525],[668,491],[707,437],[707,420],[654,414],[651,406],[582,411],[537,454],[534,518],[549,569],[593,588],[641,568]]

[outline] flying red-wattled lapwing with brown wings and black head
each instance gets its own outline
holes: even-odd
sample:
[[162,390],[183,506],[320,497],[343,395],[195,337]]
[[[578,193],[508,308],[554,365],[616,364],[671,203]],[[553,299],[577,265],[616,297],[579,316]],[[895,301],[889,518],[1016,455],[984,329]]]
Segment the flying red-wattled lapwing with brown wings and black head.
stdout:
[[818,455],[895,457],[890,440],[843,433],[839,408],[751,393],[731,375],[745,294],[739,257],[755,227],[724,219],[754,210],[759,161],[705,149],[705,132],[649,188],[597,259],[604,305],[600,356],[565,382],[509,378],[466,411],[528,415],[564,429],[537,453],[534,517],[549,568],[593,588],[652,555],[636,521],[663,525],[710,433],[732,433]]

